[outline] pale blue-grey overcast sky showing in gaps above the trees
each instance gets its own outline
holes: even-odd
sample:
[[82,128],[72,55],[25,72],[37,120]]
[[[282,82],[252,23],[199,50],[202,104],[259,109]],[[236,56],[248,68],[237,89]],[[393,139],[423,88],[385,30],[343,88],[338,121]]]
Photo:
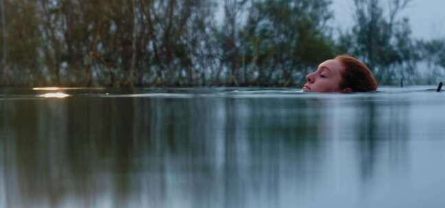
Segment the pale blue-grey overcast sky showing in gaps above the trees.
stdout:
[[[389,0],[382,0],[383,3]],[[334,24],[343,28],[353,23],[353,0],[332,0]],[[445,0],[413,0],[402,16],[411,23],[416,38],[445,38]]]

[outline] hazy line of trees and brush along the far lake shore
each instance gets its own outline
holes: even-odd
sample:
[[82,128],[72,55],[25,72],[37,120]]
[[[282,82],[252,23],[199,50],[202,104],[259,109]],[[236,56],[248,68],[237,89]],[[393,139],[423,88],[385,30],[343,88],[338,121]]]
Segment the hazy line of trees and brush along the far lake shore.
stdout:
[[0,0],[0,86],[301,86],[343,53],[434,83],[445,39],[411,37],[409,3],[354,0],[338,29],[330,0]]

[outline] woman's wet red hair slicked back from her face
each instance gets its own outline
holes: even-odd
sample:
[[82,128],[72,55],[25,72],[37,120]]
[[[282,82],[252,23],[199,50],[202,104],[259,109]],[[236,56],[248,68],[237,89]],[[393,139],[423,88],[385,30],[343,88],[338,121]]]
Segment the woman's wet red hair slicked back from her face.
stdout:
[[335,57],[345,67],[341,73],[340,88],[351,88],[352,92],[370,92],[377,90],[376,79],[369,68],[351,55]]

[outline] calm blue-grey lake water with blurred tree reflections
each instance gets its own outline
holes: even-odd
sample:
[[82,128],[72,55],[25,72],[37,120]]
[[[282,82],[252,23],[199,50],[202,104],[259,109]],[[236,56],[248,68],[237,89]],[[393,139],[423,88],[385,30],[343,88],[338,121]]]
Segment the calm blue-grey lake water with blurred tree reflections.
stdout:
[[1,89],[0,207],[445,207],[433,88]]

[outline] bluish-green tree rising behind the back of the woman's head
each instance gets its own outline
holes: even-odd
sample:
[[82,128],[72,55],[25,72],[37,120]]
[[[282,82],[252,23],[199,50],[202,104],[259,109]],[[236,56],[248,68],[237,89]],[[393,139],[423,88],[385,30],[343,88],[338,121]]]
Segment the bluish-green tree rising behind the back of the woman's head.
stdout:
[[380,0],[354,0],[355,25],[339,38],[350,40],[340,42],[340,48],[346,49],[342,53],[361,58],[380,83],[398,83],[409,78],[419,60],[409,20],[398,17],[410,1],[385,1],[388,7],[384,10]]

